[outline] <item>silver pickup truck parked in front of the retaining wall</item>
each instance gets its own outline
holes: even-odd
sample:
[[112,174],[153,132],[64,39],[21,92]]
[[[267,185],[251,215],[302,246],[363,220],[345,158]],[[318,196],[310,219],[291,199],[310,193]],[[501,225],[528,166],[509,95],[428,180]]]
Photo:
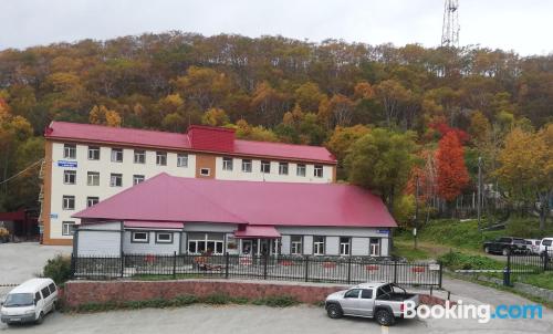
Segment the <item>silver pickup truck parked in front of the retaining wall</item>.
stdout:
[[332,319],[343,315],[374,317],[380,325],[390,326],[404,316],[406,303],[419,305],[418,294],[410,294],[394,283],[369,282],[330,294],[326,313]]

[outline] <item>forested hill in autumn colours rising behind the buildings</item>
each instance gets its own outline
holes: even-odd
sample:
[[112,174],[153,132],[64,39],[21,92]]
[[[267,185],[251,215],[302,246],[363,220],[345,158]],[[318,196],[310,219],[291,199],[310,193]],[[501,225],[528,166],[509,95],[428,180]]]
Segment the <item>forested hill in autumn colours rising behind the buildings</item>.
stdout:
[[[518,175],[553,156],[553,55],[180,32],[3,50],[0,210],[36,205],[36,169],[6,180],[43,156],[52,119],[325,145],[341,179],[400,203],[396,218],[410,215],[414,175],[429,206],[470,196],[482,156],[487,181],[529,206],[551,180]],[[542,165],[509,165],[538,148]]]

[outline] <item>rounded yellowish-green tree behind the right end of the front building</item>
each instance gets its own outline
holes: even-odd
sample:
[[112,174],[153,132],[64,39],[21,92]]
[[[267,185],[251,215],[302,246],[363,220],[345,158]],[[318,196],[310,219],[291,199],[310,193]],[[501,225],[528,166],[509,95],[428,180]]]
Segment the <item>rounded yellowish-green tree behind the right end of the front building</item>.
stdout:
[[345,158],[349,181],[380,195],[392,211],[416,163],[414,137],[410,132],[372,129],[352,145]]

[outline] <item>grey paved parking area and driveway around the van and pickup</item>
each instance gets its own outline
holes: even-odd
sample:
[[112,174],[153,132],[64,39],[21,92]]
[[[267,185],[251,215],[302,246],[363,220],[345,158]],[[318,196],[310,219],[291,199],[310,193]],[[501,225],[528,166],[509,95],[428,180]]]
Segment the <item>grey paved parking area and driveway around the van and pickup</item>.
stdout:
[[[20,283],[38,273],[44,262],[58,253],[69,254],[67,247],[42,247],[36,243],[0,244],[0,282]],[[465,304],[534,304],[509,292],[458,280],[444,281],[452,299]],[[9,288],[11,289],[11,288]],[[4,293],[9,291],[4,289]],[[255,305],[192,305],[180,309],[145,309],[94,314],[46,316],[42,325],[8,327],[0,333],[552,333],[553,313],[544,309],[543,319],[492,320],[405,320],[383,328],[372,320],[331,320],[322,307],[299,305],[271,309]]]

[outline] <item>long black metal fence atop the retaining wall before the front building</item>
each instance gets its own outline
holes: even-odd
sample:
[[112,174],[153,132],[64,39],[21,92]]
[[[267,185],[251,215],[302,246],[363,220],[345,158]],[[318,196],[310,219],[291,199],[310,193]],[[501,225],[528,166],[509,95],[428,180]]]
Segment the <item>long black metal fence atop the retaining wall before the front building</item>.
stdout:
[[441,288],[439,263],[411,263],[378,258],[289,255],[123,254],[73,257],[75,279],[219,278],[328,283],[386,281]]

